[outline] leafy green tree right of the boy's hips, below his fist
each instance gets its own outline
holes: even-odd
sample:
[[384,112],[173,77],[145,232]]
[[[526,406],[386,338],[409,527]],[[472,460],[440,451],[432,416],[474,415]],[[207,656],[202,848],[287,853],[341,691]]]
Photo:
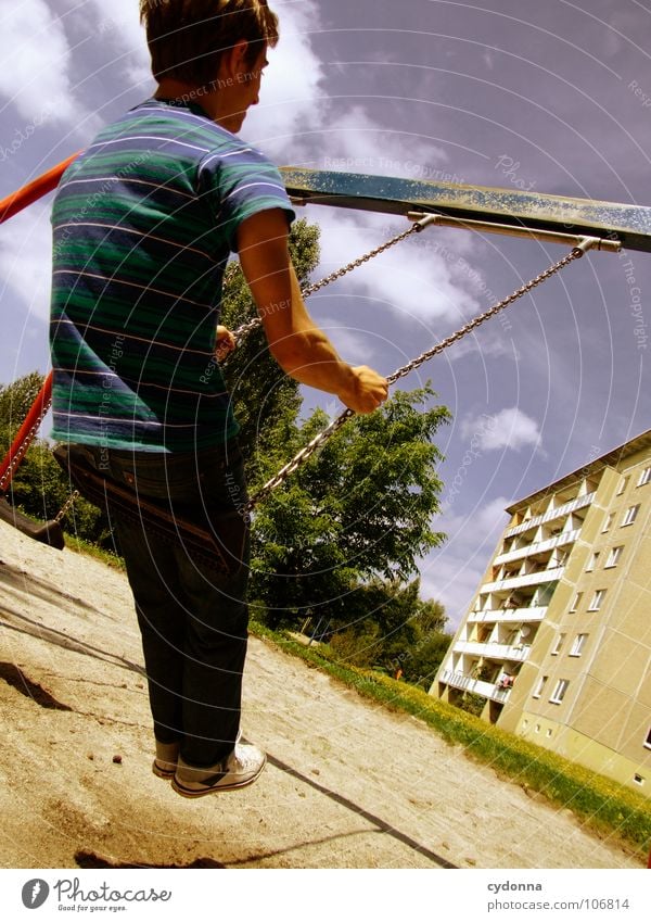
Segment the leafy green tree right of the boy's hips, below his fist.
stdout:
[[[444,540],[431,527],[442,487],[432,439],[449,414],[426,406],[432,395],[429,386],[398,392],[376,413],[354,417],[257,508],[252,595],[275,612],[273,626],[279,612],[289,623],[306,614],[350,622],[354,609],[376,605],[373,580],[394,585],[396,605],[403,590],[396,595],[395,585]],[[322,411],[312,414],[291,433],[286,453],[327,422]]]

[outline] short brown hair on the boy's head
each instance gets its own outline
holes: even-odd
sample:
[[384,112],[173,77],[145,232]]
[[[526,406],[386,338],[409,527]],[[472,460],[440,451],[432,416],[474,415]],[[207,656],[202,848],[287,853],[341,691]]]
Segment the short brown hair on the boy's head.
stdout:
[[267,0],[140,0],[140,21],[158,81],[169,76],[205,86],[238,41],[248,42],[251,65],[278,41],[278,16]]

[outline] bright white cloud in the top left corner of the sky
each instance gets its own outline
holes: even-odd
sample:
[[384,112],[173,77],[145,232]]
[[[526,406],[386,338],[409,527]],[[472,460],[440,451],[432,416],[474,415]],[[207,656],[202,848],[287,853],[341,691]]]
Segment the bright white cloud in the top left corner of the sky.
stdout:
[[0,93],[30,124],[74,122],[71,48],[63,22],[43,0],[0,0]]

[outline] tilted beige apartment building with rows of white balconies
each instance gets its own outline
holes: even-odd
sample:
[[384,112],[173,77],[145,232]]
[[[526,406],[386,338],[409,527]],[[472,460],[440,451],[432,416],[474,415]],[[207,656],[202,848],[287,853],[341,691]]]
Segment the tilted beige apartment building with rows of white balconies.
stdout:
[[507,511],[430,694],[651,796],[651,430]]

